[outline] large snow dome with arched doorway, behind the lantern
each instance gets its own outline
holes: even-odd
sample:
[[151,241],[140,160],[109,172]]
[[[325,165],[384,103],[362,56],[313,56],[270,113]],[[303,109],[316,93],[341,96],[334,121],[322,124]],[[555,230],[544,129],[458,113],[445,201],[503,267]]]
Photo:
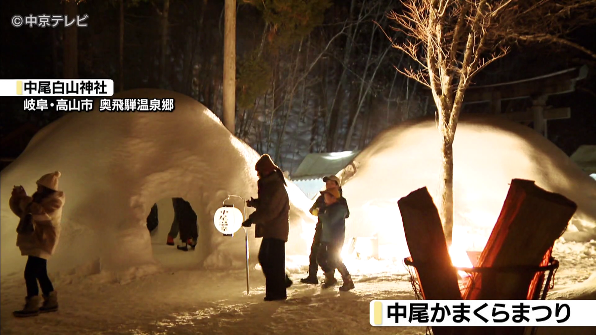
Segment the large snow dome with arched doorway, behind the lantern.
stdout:
[[[185,95],[136,89],[114,97],[174,98],[175,110],[100,113],[96,103],[94,111],[69,114],[36,134],[0,175],[2,277],[21,272],[25,263],[15,246],[18,218],[8,207],[13,185],[23,185],[31,194],[35,181],[54,170],[62,173],[66,204],[52,271],[153,271],[157,264],[146,219],[154,203],[170,197],[185,198],[197,213],[197,263],[244,266],[244,234],[223,237],[213,215],[228,194],[257,197],[254,163],[259,154]],[[302,208],[311,204],[290,182],[288,194],[287,250],[305,253],[309,245],[300,238],[302,224],[313,223],[313,217]],[[249,236],[251,258],[256,260],[260,239],[254,239],[254,228]]]

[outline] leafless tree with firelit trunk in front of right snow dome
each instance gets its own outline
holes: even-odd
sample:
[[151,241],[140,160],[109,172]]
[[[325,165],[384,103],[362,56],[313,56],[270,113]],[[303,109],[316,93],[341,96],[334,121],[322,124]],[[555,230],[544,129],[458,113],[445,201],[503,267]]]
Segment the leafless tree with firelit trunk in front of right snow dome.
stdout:
[[[588,52],[566,33],[594,21],[594,0],[402,0],[403,12],[390,20],[406,39],[394,48],[417,67],[397,69],[429,87],[442,135],[440,216],[451,246],[453,231],[453,141],[465,91],[488,64],[516,42],[555,42]],[[573,19],[572,19],[573,18]],[[389,38],[389,37],[388,37]]]

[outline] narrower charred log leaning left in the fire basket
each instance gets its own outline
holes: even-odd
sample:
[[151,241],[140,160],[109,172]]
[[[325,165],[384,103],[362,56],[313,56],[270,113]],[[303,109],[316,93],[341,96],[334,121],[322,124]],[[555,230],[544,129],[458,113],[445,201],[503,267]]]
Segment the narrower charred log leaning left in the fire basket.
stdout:
[[[461,300],[457,271],[451,263],[439,212],[427,188],[401,198],[398,206],[423,299]],[[433,327],[433,334],[458,334],[458,328]]]

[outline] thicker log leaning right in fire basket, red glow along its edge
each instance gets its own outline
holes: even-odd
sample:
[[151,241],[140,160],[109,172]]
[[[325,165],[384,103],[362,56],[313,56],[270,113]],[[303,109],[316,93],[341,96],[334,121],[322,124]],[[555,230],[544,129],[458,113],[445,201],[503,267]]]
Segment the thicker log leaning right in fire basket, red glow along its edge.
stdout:
[[[501,214],[480,255],[479,267],[539,266],[563,234],[577,205],[533,181],[513,179]],[[464,293],[470,300],[523,300],[535,272],[486,272],[471,276]],[[476,327],[474,327],[476,328]],[[523,327],[482,327],[483,334],[522,335]],[[470,328],[467,334],[474,333]]]

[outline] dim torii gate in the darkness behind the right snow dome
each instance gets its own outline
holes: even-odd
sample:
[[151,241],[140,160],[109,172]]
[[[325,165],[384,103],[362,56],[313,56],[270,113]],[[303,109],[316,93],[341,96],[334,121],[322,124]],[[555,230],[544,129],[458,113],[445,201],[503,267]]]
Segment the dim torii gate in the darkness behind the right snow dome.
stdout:
[[[569,119],[571,108],[547,108],[550,95],[575,91],[575,83],[585,79],[588,67],[576,67],[544,76],[494,85],[471,86],[465,92],[464,104],[491,104],[493,114],[498,114],[514,122],[533,123],[534,129],[547,137],[547,121]],[[526,111],[501,113],[501,102],[520,98],[532,99],[532,107]]]

